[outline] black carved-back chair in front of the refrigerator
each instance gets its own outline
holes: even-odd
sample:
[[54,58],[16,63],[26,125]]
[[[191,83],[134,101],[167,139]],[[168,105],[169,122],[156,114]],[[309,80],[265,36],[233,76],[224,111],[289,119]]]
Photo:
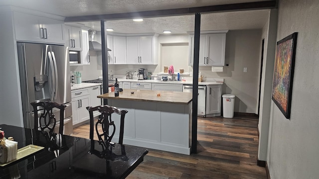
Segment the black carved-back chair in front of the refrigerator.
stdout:
[[[41,101],[41,102],[31,102],[34,111],[34,129],[39,129],[41,131],[53,132],[56,125],[56,118],[53,114],[53,108],[60,109],[60,125],[59,133],[63,134],[63,124],[64,124],[64,109],[66,105],[58,104],[51,101]],[[38,116],[38,111],[43,110],[40,117]],[[40,126],[38,125],[40,124]]]

